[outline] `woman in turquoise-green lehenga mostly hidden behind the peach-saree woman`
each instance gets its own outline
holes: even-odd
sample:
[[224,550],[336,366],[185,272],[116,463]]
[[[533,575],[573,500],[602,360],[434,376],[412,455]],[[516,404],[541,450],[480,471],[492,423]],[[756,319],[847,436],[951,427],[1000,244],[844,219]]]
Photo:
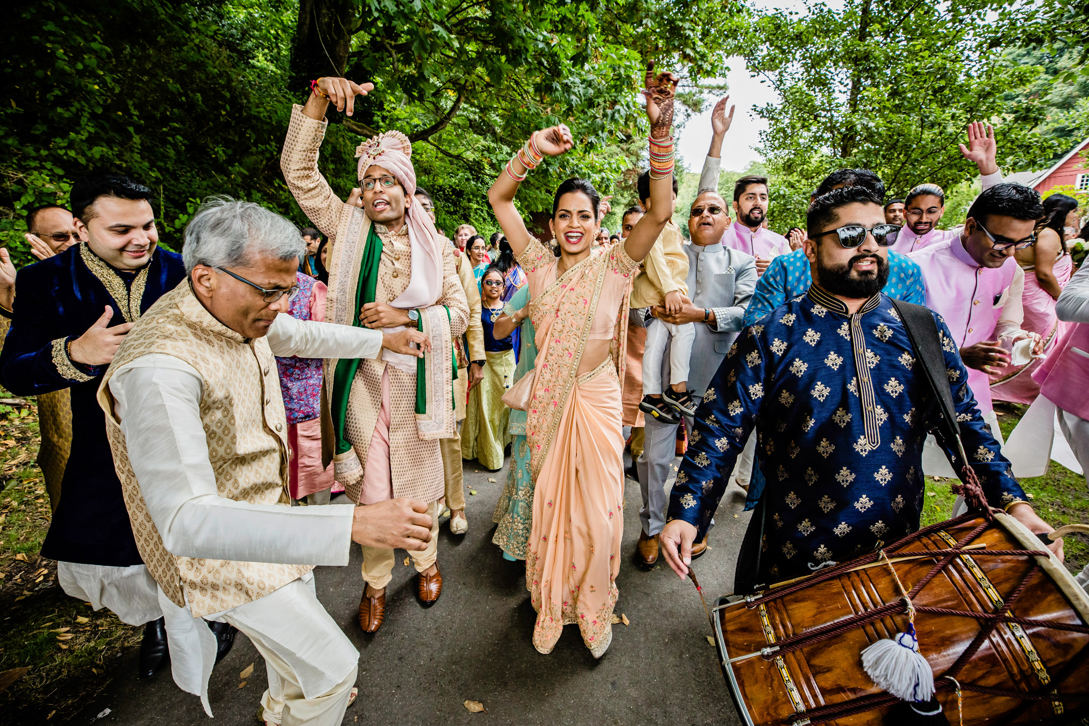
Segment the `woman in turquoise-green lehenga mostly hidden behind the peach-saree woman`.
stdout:
[[[507,302],[504,315],[495,321],[494,334],[510,335],[521,325],[522,345],[514,380],[534,369],[537,345],[534,342],[534,323],[529,320],[529,285],[524,285]],[[507,428],[511,434],[511,469],[506,484],[495,505],[491,519],[497,525],[491,541],[503,551],[503,558],[514,562],[526,558],[529,530],[534,525],[534,479],[529,475],[529,445],[526,443],[526,411],[511,410]]]

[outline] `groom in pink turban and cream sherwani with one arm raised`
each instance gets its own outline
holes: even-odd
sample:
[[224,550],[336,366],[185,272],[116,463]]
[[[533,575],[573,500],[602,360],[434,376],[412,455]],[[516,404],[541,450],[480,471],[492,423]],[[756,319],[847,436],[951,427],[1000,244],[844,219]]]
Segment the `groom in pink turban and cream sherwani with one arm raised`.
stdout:
[[[453,248],[413,196],[412,144],[386,132],[359,145],[360,206],[342,201],[318,171],[329,103],[352,115],[355,96],[372,90],[346,78],[311,84],[295,106],[280,165],[287,188],[314,225],[329,237],[326,320],[344,325],[416,328],[431,341],[424,358],[383,352],[377,360],[325,362],[322,450],[337,481],[359,504],[393,497],[427,503],[431,542],[409,553],[425,605],[439,599],[437,502],[444,494],[439,440],[455,435],[452,342],[468,324],[468,302]],[[375,632],[386,617],[393,550],[363,547],[359,627]]]

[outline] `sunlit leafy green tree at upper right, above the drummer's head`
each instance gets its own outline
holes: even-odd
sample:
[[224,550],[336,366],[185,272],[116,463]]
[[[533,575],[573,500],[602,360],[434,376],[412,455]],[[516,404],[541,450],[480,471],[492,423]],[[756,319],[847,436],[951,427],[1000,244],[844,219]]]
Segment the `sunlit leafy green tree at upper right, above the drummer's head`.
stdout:
[[846,0],[842,10],[813,0],[803,14],[760,17],[745,56],[782,98],[757,111],[770,125],[761,150],[778,182],[775,227],[802,222],[810,192],[833,169],[872,169],[896,196],[921,182],[970,179],[975,167],[957,150],[970,121],[995,123],[1004,168],[1049,158],[1054,139],[1033,133],[1039,98],[1005,97],[1040,73],[999,51],[1018,21],[987,0]]

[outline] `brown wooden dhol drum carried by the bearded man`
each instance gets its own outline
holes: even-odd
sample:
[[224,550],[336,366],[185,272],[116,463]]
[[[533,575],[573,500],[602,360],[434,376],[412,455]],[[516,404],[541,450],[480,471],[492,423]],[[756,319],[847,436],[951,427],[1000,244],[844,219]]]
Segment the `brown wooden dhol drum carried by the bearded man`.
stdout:
[[951,724],[1089,714],[1089,596],[1037,536],[996,512],[737,602],[720,598],[712,619],[742,723],[896,722],[885,718],[906,704],[873,684],[860,653],[907,629],[901,588]]

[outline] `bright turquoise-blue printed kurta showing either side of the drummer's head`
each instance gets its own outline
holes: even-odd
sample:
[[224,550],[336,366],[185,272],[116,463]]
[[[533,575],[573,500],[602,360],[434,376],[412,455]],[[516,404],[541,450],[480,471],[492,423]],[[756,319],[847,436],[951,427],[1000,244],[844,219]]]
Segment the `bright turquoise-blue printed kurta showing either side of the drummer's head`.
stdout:
[[[811,284],[813,278],[804,250],[795,249],[773,258],[752,291],[752,299],[745,310],[745,324],[751,325],[786,300],[805,295]],[[922,268],[906,255],[890,249],[889,282],[881,292],[897,300],[926,305]]]

